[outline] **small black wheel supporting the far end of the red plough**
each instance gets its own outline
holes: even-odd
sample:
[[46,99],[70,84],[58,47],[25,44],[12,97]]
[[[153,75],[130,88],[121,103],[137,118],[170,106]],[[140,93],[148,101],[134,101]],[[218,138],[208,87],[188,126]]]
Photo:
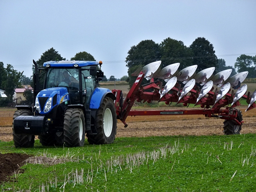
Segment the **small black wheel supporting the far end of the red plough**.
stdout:
[[[233,110],[237,110],[237,117],[236,119],[241,122],[243,120],[242,118],[242,111],[239,109],[233,108],[229,109],[229,114],[232,114]],[[225,135],[233,135],[233,134],[240,134],[240,131],[242,129],[242,124],[241,125],[236,125],[234,120],[225,120],[223,122],[223,132]]]

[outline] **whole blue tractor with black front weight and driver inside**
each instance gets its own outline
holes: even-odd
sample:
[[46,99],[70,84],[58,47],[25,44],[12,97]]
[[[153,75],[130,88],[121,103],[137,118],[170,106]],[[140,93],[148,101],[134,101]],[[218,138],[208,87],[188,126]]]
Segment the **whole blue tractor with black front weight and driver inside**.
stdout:
[[15,147],[33,147],[35,135],[44,146],[80,147],[85,134],[90,144],[113,143],[116,97],[99,87],[102,62],[48,61],[42,68],[33,63],[35,104],[16,106],[12,127]]

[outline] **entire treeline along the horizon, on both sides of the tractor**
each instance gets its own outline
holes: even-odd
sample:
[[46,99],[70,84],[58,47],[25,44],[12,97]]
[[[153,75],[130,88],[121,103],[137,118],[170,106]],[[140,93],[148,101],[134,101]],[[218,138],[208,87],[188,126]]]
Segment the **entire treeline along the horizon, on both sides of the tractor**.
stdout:
[[[41,66],[44,62],[50,60],[66,60],[66,58],[63,58],[58,51],[52,47],[45,51],[36,62]],[[87,52],[78,52],[74,57],[70,58],[70,60],[95,61],[94,57]],[[132,86],[136,77],[131,76],[131,74],[138,66],[145,66],[156,60],[162,60],[162,68],[172,63],[179,62],[180,69],[191,65],[198,65],[197,72],[199,72],[205,68],[215,67],[216,74],[219,71],[232,68],[231,76],[235,75],[237,70],[237,72],[249,71],[247,78],[256,78],[256,55],[249,56],[242,54],[239,56],[236,59],[235,70],[235,68],[231,66],[226,66],[225,60],[217,58],[213,45],[204,37],[196,38],[189,47],[185,46],[182,41],[168,37],[160,44],[156,44],[153,40],[144,40],[132,46],[126,57],[126,66],[129,68],[128,76],[123,76],[120,80],[127,81],[130,86]],[[34,71],[34,65],[32,70]],[[12,101],[15,88],[20,88],[22,85],[26,84],[32,85],[30,77],[24,76],[23,72],[14,70],[10,64],[7,64],[7,67],[4,68],[4,63],[0,62],[0,74],[0,89],[5,90],[8,102]],[[117,80],[115,76],[110,76],[109,81],[115,80]],[[108,81],[107,77],[104,76],[102,81]],[[31,94],[26,93],[25,95]]]

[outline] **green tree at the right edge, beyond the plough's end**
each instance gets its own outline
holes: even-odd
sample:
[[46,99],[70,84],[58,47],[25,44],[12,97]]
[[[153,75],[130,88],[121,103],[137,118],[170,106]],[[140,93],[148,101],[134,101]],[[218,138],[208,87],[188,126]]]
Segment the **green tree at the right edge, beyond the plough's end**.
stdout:
[[256,78],[256,55],[240,55],[236,58],[235,68],[238,73],[248,71],[247,78]]

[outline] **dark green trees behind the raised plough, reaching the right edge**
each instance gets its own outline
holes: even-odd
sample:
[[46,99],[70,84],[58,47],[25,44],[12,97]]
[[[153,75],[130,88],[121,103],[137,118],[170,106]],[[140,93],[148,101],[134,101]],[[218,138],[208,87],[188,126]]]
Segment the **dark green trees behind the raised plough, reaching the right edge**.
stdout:
[[[253,58],[255,60],[255,57],[241,55],[236,60],[235,68],[238,72],[249,71],[250,76],[248,77],[254,77],[255,72],[252,71],[256,68],[255,61],[253,63]],[[136,77],[131,76],[131,74],[140,65],[143,67],[157,60],[162,61],[162,68],[172,63],[180,63],[179,69],[197,65],[196,72],[199,72],[205,68],[215,67],[214,74],[216,74],[222,70],[232,68],[231,76],[236,74],[235,68],[226,66],[225,60],[217,58],[213,45],[204,37],[196,38],[189,47],[184,45],[182,41],[168,37],[160,44],[155,43],[153,40],[144,40],[131,47],[126,57],[126,67],[129,68],[127,80],[129,85],[132,86],[136,79]]]

